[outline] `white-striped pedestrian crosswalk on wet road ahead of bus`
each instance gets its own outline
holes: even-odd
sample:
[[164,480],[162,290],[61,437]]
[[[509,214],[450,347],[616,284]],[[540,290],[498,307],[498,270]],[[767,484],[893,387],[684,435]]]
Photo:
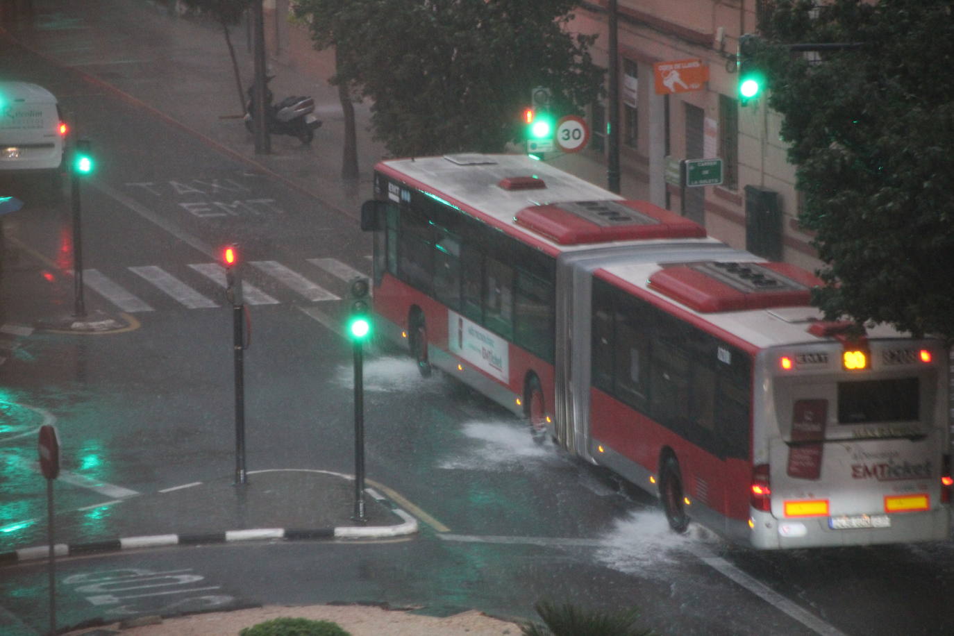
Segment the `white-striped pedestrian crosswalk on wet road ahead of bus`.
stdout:
[[[307,258],[300,266],[277,260],[252,260],[247,265],[242,271],[242,298],[249,305],[340,300],[343,283],[367,276],[331,257]],[[223,294],[227,286],[225,268],[216,262],[136,265],[109,272],[89,268],[83,270],[83,284],[130,314],[166,307],[211,309],[228,304]],[[336,294],[322,285],[340,291]]]

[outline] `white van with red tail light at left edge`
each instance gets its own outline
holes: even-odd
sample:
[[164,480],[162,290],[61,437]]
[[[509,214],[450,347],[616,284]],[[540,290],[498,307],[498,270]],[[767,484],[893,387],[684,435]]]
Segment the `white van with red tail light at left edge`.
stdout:
[[56,171],[66,131],[52,92],[0,81],[0,172]]

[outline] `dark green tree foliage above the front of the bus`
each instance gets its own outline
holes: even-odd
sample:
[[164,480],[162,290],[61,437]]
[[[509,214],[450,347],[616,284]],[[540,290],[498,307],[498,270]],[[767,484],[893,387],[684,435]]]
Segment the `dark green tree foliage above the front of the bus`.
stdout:
[[336,81],[372,101],[376,138],[397,155],[500,152],[521,133],[530,90],[553,112],[596,98],[594,35],[566,31],[569,0],[299,0],[315,46],[346,52]]

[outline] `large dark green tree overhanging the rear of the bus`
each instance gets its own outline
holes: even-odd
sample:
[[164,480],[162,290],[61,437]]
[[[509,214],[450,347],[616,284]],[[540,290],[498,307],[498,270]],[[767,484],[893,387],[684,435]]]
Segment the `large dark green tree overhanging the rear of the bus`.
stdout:
[[[791,146],[827,318],[954,339],[950,1],[767,2],[757,58]],[[811,62],[790,43],[859,43]]]

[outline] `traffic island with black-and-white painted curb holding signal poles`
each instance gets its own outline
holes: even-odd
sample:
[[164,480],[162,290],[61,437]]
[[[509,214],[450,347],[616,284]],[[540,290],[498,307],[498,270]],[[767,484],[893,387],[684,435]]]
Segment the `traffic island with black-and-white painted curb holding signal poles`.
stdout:
[[[119,493],[121,496],[122,493]],[[365,487],[364,523],[354,519],[354,478],[324,470],[259,470],[248,483],[232,478],[185,483],[152,494],[58,512],[55,553],[254,540],[380,539],[417,532],[418,523],[373,487]],[[90,523],[95,518],[97,523]],[[101,534],[108,527],[109,535]],[[0,565],[46,559],[46,523],[17,533]]]

